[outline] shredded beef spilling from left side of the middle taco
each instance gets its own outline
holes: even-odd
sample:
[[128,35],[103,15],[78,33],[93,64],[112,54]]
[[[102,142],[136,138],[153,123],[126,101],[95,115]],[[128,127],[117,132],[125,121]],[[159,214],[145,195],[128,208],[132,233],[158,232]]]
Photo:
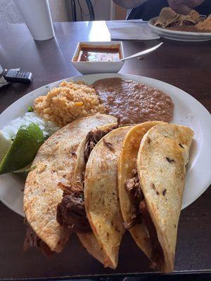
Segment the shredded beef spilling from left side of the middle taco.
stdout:
[[[84,160],[87,163],[91,150],[95,147],[96,143],[106,136],[109,131],[112,131],[117,126],[113,126],[106,131],[96,129],[90,131],[87,134],[86,144],[84,147]],[[70,228],[77,233],[89,233],[91,232],[91,226],[87,218],[85,206],[84,206],[84,176],[82,183],[77,186],[77,183],[63,185],[60,183],[60,188],[63,188],[63,200],[57,206],[56,219],[60,226]]]

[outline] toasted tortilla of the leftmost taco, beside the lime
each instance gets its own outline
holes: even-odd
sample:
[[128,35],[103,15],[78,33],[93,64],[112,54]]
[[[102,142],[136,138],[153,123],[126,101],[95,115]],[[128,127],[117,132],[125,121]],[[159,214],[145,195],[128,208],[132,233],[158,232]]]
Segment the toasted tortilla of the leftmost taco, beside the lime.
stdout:
[[91,129],[116,121],[109,115],[82,117],[54,133],[39,148],[25,183],[23,205],[27,222],[51,251],[62,251],[70,236],[70,230],[56,221],[56,208],[63,198],[60,183],[71,183],[75,152]]

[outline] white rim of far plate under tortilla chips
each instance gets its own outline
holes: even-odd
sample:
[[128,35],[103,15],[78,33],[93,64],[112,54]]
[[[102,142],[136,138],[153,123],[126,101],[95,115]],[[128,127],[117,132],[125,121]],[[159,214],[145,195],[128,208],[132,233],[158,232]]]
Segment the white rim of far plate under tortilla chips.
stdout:
[[211,40],[211,32],[184,32],[177,30],[167,30],[161,27],[155,27],[158,17],[151,18],[148,25],[151,29],[161,37],[177,40],[177,41],[208,41]]

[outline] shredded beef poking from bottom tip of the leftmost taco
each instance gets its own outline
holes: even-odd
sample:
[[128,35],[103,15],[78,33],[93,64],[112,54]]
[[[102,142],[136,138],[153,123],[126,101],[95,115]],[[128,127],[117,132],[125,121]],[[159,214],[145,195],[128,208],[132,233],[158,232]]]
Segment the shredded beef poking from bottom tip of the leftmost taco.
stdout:
[[46,256],[52,256],[53,251],[49,248],[49,246],[41,240],[37,236],[36,233],[34,233],[34,230],[32,230],[29,223],[25,222],[27,229],[25,234],[25,240],[23,243],[23,250],[26,251],[29,247],[37,247],[40,251],[42,251]]

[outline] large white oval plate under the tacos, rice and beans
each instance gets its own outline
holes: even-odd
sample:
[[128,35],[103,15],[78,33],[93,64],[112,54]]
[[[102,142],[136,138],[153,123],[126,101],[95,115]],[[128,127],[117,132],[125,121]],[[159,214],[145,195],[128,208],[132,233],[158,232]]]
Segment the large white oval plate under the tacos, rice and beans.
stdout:
[[[83,80],[87,84],[102,78],[121,77],[151,85],[167,93],[174,102],[174,118],[172,123],[191,127],[195,135],[191,145],[191,154],[187,167],[186,187],[182,207],[185,208],[195,201],[210,185],[211,159],[211,116],[195,98],[188,93],[165,82],[129,74],[90,74],[65,79],[66,81]],[[33,105],[34,98],[45,95],[50,88],[58,86],[62,80],[43,86],[15,101],[0,115],[0,129],[11,120],[23,115],[27,107]],[[24,178],[20,174],[4,174],[0,176],[0,199],[16,213],[23,214]]]

